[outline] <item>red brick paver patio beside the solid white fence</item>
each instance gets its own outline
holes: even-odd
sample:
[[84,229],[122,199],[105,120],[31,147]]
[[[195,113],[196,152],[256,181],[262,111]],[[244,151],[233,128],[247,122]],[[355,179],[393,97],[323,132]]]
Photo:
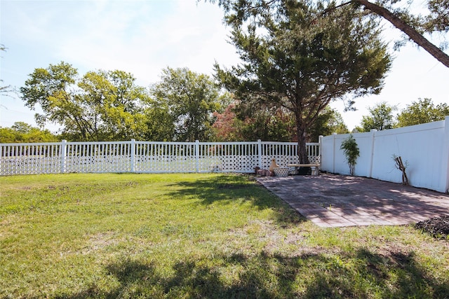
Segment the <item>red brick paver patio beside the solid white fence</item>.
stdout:
[[262,176],[265,188],[321,227],[403,225],[449,215],[449,195],[356,176]]

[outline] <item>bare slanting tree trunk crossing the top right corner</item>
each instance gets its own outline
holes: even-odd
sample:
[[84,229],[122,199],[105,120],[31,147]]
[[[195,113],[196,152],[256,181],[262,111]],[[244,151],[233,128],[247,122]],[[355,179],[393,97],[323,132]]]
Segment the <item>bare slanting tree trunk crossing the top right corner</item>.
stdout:
[[426,50],[430,55],[434,56],[436,60],[444,64],[446,67],[449,67],[449,55],[444,53],[433,43],[424,38],[422,34],[417,32],[415,29],[413,29],[413,27],[411,27],[406,22],[398,18],[396,15],[394,15],[394,13],[391,13],[389,10],[387,10],[387,8],[383,8],[382,6],[373,4],[368,0],[354,0],[354,2],[357,2],[365,6],[366,9],[373,11],[373,13],[376,13],[377,15],[380,15],[382,18],[391,22],[391,24],[393,24],[394,27],[398,28],[403,33],[407,34],[408,37],[410,37],[410,39],[412,39],[413,41],[415,41],[415,43],[424,48],[424,50]]

